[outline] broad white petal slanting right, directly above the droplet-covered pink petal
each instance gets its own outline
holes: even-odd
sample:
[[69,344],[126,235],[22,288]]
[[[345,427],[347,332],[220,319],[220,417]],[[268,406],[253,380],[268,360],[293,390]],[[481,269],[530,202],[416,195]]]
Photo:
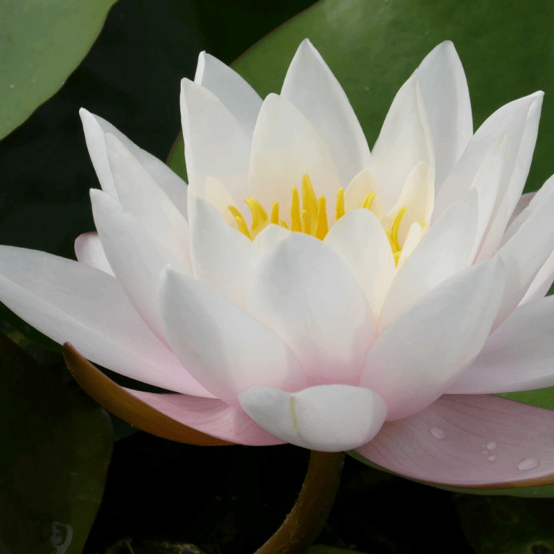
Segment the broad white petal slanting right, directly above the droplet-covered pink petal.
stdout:
[[503,265],[495,256],[445,280],[377,335],[359,384],[384,399],[388,420],[429,406],[474,361],[502,291]]

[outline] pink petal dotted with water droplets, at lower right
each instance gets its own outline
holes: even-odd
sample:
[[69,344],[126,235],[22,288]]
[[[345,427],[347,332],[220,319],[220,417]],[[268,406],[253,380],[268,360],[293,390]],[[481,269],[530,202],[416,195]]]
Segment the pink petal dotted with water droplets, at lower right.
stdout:
[[554,411],[488,395],[445,395],[388,422],[357,452],[443,485],[505,489],[554,483]]

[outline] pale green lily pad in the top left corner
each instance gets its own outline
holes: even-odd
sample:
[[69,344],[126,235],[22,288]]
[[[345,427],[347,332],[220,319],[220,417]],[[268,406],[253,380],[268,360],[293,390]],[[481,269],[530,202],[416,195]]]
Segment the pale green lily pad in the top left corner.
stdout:
[[116,0],[0,0],[0,139],[62,87]]

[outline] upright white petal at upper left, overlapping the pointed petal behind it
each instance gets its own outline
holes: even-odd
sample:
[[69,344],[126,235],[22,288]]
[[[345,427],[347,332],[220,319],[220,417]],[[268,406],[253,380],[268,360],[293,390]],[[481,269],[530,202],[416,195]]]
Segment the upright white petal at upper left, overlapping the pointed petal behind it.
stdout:
[[234,198],[248,196],[251,139],[238,120],[211,91],[181,81],[181,123],[188,180],[204,198],[207,177],[225,186]]

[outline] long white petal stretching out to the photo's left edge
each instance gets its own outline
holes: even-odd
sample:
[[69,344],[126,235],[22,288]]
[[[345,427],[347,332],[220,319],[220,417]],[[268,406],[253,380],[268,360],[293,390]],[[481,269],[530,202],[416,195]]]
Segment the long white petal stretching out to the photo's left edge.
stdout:
[[154,337],[118,281],[103,271],[1,246],[0,301],[53,341],[71,341],[96,364],[172,391],[213,397]]

